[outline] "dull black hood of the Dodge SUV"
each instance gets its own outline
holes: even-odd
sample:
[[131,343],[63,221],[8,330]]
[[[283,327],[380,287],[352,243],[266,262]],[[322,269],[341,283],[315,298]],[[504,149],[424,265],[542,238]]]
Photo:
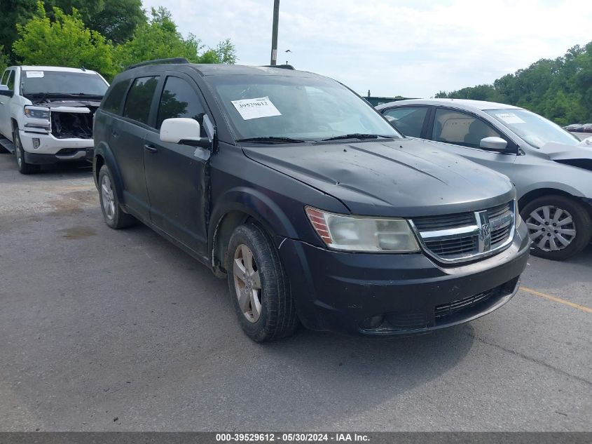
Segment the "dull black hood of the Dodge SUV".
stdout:
[[404,139],[242,149],[250,159],[336,197],[358,215],[443,215],[514,198],[506,176],[437,147]]

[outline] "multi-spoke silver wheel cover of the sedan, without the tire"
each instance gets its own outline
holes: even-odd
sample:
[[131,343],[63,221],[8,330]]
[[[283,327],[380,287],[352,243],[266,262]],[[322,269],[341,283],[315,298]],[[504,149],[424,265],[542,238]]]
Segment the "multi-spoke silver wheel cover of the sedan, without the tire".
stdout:
[[532,211],[526,219],[528,236],[543,251],[559,251],[567,248],[576,238],[572,215],[556,206],[542,206]]

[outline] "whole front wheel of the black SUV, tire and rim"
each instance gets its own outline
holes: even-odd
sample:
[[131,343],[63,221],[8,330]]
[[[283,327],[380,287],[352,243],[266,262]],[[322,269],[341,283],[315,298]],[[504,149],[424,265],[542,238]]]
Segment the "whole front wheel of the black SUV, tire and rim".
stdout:
[[298,328],[294,299],[280,257],[266,233],[255,224],[237,227],[230,236],[225,263],[242,331],[255,342],[293,335]]

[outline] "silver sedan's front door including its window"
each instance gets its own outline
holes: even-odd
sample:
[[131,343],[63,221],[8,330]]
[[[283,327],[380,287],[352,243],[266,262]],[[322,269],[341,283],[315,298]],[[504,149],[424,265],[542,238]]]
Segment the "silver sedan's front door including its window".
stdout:
[[[508,142],[508,152],[500,153],[479,147],[483,137],[501,137]],[[476,114],[436,107],[430,117],[426,138],[443,142],[440,149],[444,151],[458,154],[511,177],[511,166],[516,161],[518,147],[509,137]]]

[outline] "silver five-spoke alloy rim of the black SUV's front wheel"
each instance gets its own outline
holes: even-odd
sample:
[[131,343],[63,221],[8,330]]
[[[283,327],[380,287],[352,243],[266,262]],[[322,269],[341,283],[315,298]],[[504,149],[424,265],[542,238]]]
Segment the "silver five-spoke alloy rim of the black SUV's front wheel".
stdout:
[[257,322],[261,316],[261,276],[253,252],[241,243],[235,250],[233,276],[238,306],[249,322]]

